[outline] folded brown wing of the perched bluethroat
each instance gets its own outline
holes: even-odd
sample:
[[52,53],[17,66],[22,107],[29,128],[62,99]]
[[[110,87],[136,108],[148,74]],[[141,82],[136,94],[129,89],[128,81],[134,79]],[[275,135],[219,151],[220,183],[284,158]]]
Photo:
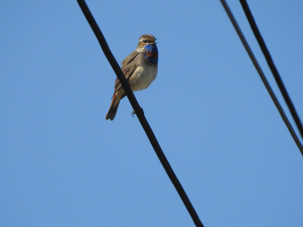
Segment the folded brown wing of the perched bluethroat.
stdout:
[[[138,51],[134,51],[131,54],[129,54],[123,61],[122,61],[122,72],[124,73],[126,79],[128,80],[129,77],[133,74],[133,72],[135,71],[135,69],[138,67],[138,65],[140,64],[141,58]],[[117,90],[119,90],[121,88],[121,84],[120,81],[118,80],[118,78],[115,81],[115,92],[114,94],[117,92]],[[124,97],[124,96],[123,96]]]

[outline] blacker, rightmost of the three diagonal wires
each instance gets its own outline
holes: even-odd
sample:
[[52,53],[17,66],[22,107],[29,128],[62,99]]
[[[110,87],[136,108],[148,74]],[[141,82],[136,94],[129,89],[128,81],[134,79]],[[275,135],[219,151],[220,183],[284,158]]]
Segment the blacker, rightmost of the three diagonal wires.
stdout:
[[288,106],[288,109],[290,110],[291,115],[292,115],[293,119],[295,120],[295,123],[296,123],[296,125],[298,127],[298,130],[299,130],[299,132],[301,134],[301,137],[303,138],[303,126],[302,126],[302,122],[301,122],[301,120],[300,120],[300,118],[298,116],[298,113],[297,113],[297,111],[295,109],[294,104],[292,103],[292,101],[291,101],[291,99],[290,99],[290,97],[288,95],[288,92],[287,92],[287,90],[286,90],[286,88],[285,88],[285,86],[283,84],[283,81],[281,79],[280,74],[278,73],[278,70],[277,70],[277,68],[276,68],[276,66],[274,64],[274,61],[271,58],[271,55],[270,55],[270,53],[268,51],[268,48],[266,47],[264,39],[261,36],[261,33],[260,33],[260,31],[259,31],[259,29],[257,27],[255,19],[254,19],[254,17],[251,14],[251,11],[250,11],[250,9],[248,7],[248,4],[247,4],[247,2],[245,0],[239,0],[239,1],[240,1],[241,5],[242,5],[242,8],[243,8],[244,13],[246,15],[246,18],[247,18],[247,20],[248,20],[248,22],[250,24],[250,27],[251,27],[252,31],[254,32],[255,37],[256,37],[256,39],[257,39],[257,41],[259,43],[259,46],[260,46],[260,48],[261,48],[261,50],[262,50],[262,52],[263,52],[263,54],[264,54],[264,56],[266,58],[267,64],[268,64],[268,66],[269,66],[272,74],[275,77],[275,80],[276,80],[276,82],[278,84],[278,87],[279,87],[279,89],[280,89],[283,97],[284,97],[284,100],[285,100],[285,102],[286,102],[286,104]]

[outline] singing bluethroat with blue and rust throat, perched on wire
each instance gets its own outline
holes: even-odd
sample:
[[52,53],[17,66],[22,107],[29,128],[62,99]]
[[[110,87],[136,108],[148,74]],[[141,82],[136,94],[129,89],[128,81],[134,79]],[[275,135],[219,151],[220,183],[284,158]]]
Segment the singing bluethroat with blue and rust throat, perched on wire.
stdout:
[[[158,48],[155,40],[156,38],[153,35],[141,35],[135,51],[122,61],[121,69],[132,91],[143,90],[156,79],[158,73]],[[106,120],[114,120],[120,100],[124,97],[124,90],[117,78],[112,104],[106,114]]]

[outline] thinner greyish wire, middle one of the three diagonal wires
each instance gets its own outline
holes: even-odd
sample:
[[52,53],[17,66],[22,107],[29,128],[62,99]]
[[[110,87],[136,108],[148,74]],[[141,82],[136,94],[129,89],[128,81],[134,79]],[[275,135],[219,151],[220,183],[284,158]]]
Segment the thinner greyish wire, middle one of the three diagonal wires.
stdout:
[[265,87],[266,87],[266,89],[267,89],[267,91],[268,91],[271,99],[273,100],[275,106],[277,107],[277,109],[278,109],[278,111],[279,111],[279,113],[280,113],[280,115],[281,115],[284,123],[286,124],[286,126],[287,126],[287,128],[288,128],[288,130],[289,130],[289,132],[290,132],[290,134],[292,136],[292,138],[295,140],[295,143],[297,144],[297,146],[298,146],[298,148],[299,148],[299,150],[300,150],[300,152],[301,152],[301,154],[303,156],[303,146],[302,146],[302,144],[301,144],[298,136],[296,135],[295,130],[291,126],[288,118],[286,117],[286,115],[284,113],[284,110],[282,109],[282,107],[281,107],[281,105],[280,105],[277,97],[275,96],[275,93],[271,89],[271,87],[270,87],[270,85],[269,85],[269,83],[268,83],[268,81],[267,81],[267,79],[266,79],[266,77],[265,77],[265,75],[264,75],[264,73],[263,73],[260,65],[258,64],[258,61],[256,60],[254,54],[252,53],[251,48],[249,47],[249,45],[248,45],[248,43],[247,43],[247,41],[246,41],[246,39],[245,39],[245,37],[244,37],[241,29],[239,28],[239,25],[237,24],[237,22],[236,22],[234,16],[232,15],[232,13],[231,13],[231,11],[230,11],[227,3],[225,2],[225,0],[220,0],[220,1],[221,1],[222,5],[224,7],[224,9],[225,9],[225,11],[226,11],[229,19],[231,20],[232,25],[234,26],[235,30],[237,31],[238,36],[241,39],[241,42],[244,45],[245,50],[247,51],[247,53],[248,53],[248,55],[249,55],[252,63],[254,64],[256,70],[258,71],[258,74],[260,75],[261,80],[263,81],[263,83],[264,83],[264,85],[265,85]]

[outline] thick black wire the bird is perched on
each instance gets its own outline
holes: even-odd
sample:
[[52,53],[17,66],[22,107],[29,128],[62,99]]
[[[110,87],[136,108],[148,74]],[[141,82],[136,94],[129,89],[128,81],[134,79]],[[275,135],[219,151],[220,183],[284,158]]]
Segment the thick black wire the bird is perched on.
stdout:
[[[132,92],[132,89],[130,88],[128,81],[126,80],[121,68],[119,67],[119,64],[117,63],[116,59],[114,58],[114,55],[110,51],[107,42],[105,41],[105,38],[97,25],[92,13],[90,12],[88,6],[86,5],[86,2],[84,0],[77,0],[83,14],[85,15],[85,18],[88,21],[88,24],[91,26],[93,32],[95,33],[96,38],[99,41],[99,44],[102,48],[102,51],[104,52],[107,60],[111,64],[113,70],[115,71],[115,74],[117,75],[125,94],[128,97],[129,102],[131,103],[132,107],[135,110],[135,113],[141,113],[142,109],[139,106],[134,93]],[[191,202],[188,199],[188,196],[186,195],[181,183],[179,182],[177,176],[175,175],[174,171],[172,170],[170,164],[168,163],[168,160],[166,159],[156,137],[153,131],[151,130],[151,127],[149,126],[144,113],[141,114],[136,114],[152,147],[155,150],[155,153],[157,154],[163,168],[165,169],[169,179],[175,186],[175,189],[177,190],[179,196],[181,197],[186,209],[188,210],[189,214],[191,215],[192,220],[194,221],[196,226],[204,226],[201,222],[201,220],[198,217],[197,212],[195,211],[194,207],[192,206]]]

